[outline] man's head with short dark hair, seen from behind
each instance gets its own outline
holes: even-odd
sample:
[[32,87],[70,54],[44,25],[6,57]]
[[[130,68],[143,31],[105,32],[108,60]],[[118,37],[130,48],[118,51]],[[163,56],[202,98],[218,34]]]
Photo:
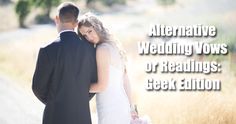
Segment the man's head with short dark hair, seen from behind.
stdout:
[[56,16],[55,22],[57,24],[58,30],[62,29],[74,29],[77,26],[77,18],[79,15],[79,8],[71,3],[64,2],[58,7],[58,14]]

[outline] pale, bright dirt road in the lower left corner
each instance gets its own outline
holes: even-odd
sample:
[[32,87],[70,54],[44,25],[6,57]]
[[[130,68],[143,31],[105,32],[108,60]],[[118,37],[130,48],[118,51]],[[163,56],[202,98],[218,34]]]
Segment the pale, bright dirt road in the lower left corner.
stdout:
[[30,90],[23,90],[6,78],[0,77],[0,94],[1,124],[41,123],[44,106]]

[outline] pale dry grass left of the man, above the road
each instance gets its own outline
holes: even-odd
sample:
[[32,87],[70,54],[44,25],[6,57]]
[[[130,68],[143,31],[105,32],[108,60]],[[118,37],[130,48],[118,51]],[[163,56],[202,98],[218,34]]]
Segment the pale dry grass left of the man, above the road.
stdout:
[[30,33],[28,31],[27,37],[20,38],[18,36],[19,39],[1,41],[3,42],[0,45],[1,72],[19,80],[23,83],[22,85],[29,86],[39,48],[48,44],[48,41],[52,41],[56,36],[56,31],[49,28],[43,35],[42,37],[41,32]]

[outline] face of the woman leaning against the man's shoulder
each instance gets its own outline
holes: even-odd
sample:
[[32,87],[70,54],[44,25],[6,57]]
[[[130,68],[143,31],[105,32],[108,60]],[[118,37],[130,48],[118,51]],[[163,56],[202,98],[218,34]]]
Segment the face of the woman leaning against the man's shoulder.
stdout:
[[92,26],[81,26],[79,32],[91,43],[97,44],[100,40],[97,32]]

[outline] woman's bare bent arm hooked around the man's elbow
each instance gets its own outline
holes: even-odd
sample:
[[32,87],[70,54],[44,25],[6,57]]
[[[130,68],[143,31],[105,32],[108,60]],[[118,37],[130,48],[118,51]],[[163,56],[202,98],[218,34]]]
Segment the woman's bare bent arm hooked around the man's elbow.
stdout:
[[97,93],[104,91],[109,80],[109,48],[106,46],[98,46],[96,51],[98,80],[90,85],[90,93]]

